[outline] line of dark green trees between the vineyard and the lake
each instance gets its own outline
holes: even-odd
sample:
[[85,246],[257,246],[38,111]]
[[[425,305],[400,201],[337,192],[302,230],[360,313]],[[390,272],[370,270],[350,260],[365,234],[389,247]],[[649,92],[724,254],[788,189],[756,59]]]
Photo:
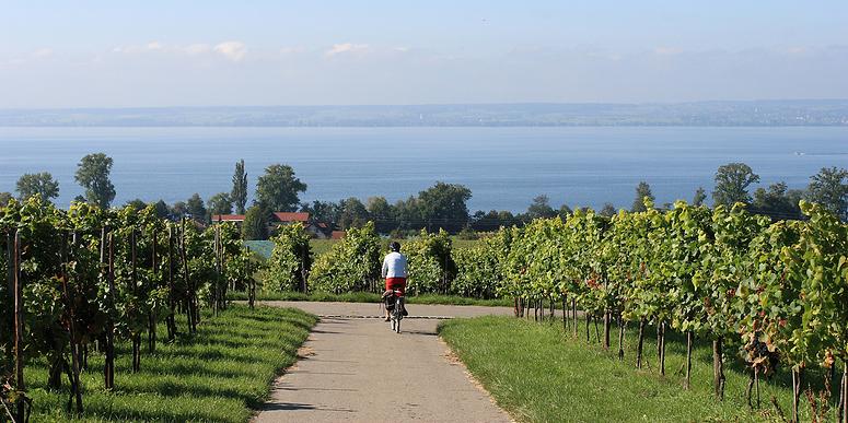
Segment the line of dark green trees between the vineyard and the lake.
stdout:
[[[89,154],[78,164],[74,178],[85,190],[84,196],[77,201],[85,201],[108,208],[115,198],[115,187],[109,179],[113,160],[103,153]],[[840,219],[848,220],[848,169],[837,167],[822,168],[811,176],[804,189],[790,189],[785,183],[776,183],[768,187],[758,187],[751,192],[751,187],[759,183],[759,175],[744,163],[729,163],[720,166],[715,175],[715,188],[711,192],[713,205],[731,205],[736,202],[747,204],[748,210],[766,214],[774,219],[803,219],[798,204],[808,200],[822,204],[836,213]],[[300,196],[306,191],[306,184],[297,177],[294,169],[284,164],[267,166],[256,180],[254,200],[248,207],[248,178],[244,161],[235,163],[232,176],[232,187],[229,191],[218,192],[208,200],[199,193],[194,193],[185,201],[167,204],[162,200],[154,202],[156,215],[177,221],[182,218],[193,219],[208,224],[212,216],[219,214],[245,214],[242,228],[245,239],[267,239],[269,221],[272,212],[301,211],[310,213],[315,222],[327,223],[330,228],[348,230],[360,227],[365,222],[374,222],[375,230],[381,234],[392,234],[395,237],[415,235],[420,230],[430,232],[440,228],[450,233],[465,233],[475,236],[477,232],[492,232],[501,226],[523,225],[534,219],[566,216],[572,212],[571,207],[562,203],[559,208],[551,204],[550,198],[539,195],[528,204],[526,211],[513,213],[507,210],[478,210],[471,213],[467,207],[472,190],[460,184],[437,181],[433,186],[421,190],[416,196],[391,203],[385,197],[374,196],[364,202],[356,197],[338,201],[315,200],[301,202]],[[59,184],[45,172],[22,175],[16,184],[18,198],[23,200],[35,195],[43,199],[55,199],[59,195]],[[651,187],[647,181],[640,181],[636,187],[635,200],[630,211],[643,211],[642,199],[654,200]],[[12,195],[0,192],[0,205]],[[707,202],[707,191],[700,187],[693,196],[695,205]],[[148,205],[136,199],[125,205],[138,210]],[[671,203],[662,205],[670,209]],[[576,207],[576,209],[580,209]],[[583,208],[585,210],[585,208]],[[617,212],[615,204],[605,203],[599,213],[612,216]]]

